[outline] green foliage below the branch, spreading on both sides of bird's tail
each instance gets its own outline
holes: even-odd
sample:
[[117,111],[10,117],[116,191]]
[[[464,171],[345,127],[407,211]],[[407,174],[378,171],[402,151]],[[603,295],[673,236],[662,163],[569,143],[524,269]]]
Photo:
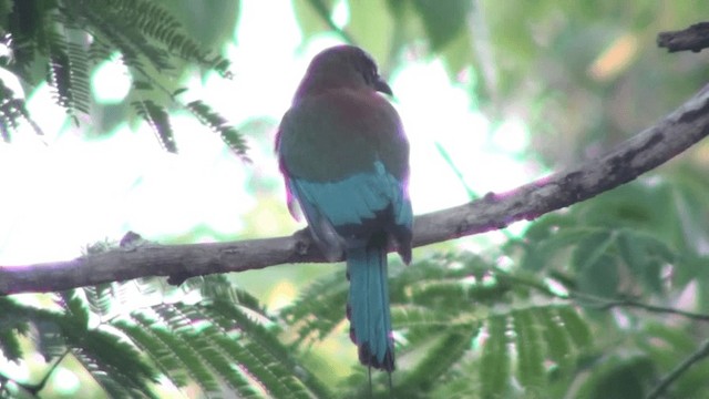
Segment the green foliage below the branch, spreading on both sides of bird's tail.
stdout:
[[[709,186],[647,182],[547,215],[496,252],[394,264],[399,368],[391,390],[374,375],[373,397],[646,397],[697,351],[709,321],[677,309],[691,285],[706,295],[706,257],[682,238],[682,215],[666,211]],[[136,306],[136,289],[158,300]],[[270,315],[223,276],[76,289],[53,296],[52,311],[3,298],[0,344],[9,359],[23,356],[22,337],[47,358],[69,352],[117,397],[156,396],[166,378],[208,397],[357,398],[366,369],[333,381],[304,351],[343,334],[347,289],[338,270]],[[699,395],[707,367],[684,372],[671,396]]]

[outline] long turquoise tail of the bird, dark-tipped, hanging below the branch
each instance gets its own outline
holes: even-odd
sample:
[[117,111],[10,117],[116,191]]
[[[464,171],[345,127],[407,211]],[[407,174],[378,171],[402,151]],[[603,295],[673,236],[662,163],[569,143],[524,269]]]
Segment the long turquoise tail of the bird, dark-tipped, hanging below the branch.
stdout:
[[394,344],[391,337],[386,243],[347,249],[350,295],[347,317],[350,338],[364,366],[393,371]]

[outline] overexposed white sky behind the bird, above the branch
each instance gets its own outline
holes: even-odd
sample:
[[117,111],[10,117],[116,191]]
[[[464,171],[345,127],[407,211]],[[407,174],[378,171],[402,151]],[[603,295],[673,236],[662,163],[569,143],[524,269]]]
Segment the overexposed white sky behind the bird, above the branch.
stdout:
[[[243,1],[235,41],[225,49],[234,62],[234,79],[216,73],[205,80],[194,78],[184,101],[202,98],[236,126],[253,117],[278,121],[309,60],[340,43],[333,35],[322,35],[304,45],[292,12],[278,10],[269,2]],[[347,18],[347,10],[339,7],[337,20],[345,23]],[[269,23],[263,23],[266,20]],[[106,62],[93,78],[94,99],[104,103],[122,101],[130,84],[119,62]],[[465,184],[481,195],[538,175],[518,160],[528,143],[524,124],[512,120],[493,129],[474,110],[466,89],[451,85],[441,61],[412,62],[393,71],[390,83],[411,142],[414,213],[470,201],[436,144],[449,153]],[[257,185],[280,181],[270,144],[275,131],[267,140],[249,137],[254,160],[249,165],[187,113],[173,116],[179,147],[174,155],[162,150],[145,123],[136,130],[122,125],[104,139],[89,140],[54,104],[47,85],[27,93],[27,99],[47,135],[22,129],[13,143],[0,143],[0,265],[72,258],[88,244],[117,241],[127,231],[157,239],[209,225],[213,232],[236,238],[244,216],[259,205],[247,184],[253,186],[253,178],[258,178]],[[285,203],[282,190],[280,196]],[[289,234],[298,225],[286,216],[285,205],[275,219],[289,222],[277,233]]]

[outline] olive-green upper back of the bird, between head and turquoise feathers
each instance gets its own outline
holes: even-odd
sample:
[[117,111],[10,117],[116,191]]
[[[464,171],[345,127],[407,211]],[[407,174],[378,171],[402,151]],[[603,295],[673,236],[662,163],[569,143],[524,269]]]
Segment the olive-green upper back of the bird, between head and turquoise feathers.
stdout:
[[409,144],[397,111],[371,90],[333,90],[302,99],[284,116],[281,168],[309,181],[339,181],[374,171],[377,161],[408,177]]

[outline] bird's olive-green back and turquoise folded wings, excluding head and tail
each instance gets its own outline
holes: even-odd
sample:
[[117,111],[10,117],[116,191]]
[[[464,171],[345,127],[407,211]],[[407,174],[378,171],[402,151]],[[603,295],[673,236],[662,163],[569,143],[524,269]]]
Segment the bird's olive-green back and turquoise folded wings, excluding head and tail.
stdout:
[[411,229],[408,143],[376,93],[338,91],[294,106],[277,147],[287,187],[316,238],[347,245],[374,229]]

